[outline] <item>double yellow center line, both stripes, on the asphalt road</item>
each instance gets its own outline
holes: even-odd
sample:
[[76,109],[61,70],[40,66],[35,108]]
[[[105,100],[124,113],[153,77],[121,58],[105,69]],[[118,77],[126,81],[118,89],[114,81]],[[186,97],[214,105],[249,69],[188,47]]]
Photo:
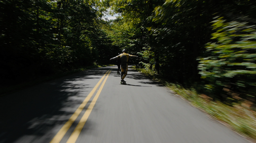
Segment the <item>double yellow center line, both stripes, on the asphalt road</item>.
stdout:
[[92,89],[92,91],[89,93],[89,95],[85,98],[85,100],[82,102],[82,104],[78,107],[78,109],[75,111],[75,113],[68,119],[68,121],[62,126],[62,128],[59,130],[59,132],[53,137],[53,139],[50,141],[50,143],[58,143],[58,142],[60,142],[60,140],[63,138],[63,136],[65,135],[67,130],[70,128],[72,123],[74,123],[74,121],[80,115],[80,113],[84,109],[85,105],[88,103],[88,101],[94,95],[94,93],[97,90],[97,88],[99,87],[100,83],[106,77],[105,80],[103,81],[103,83],[101,84],[98,92],[96,93],[95,97],[93,98],[91,104],[89,105],[88,109],[85,111],[83,117],[79,121],[77,127],[75,128],[75,130],[72,132],[72,134],[70,135],[70,137],[67,140],[67,143],[76,142],[76,140],[77,140],[81,130],[83,129],[83,127],[85,125],[85,122],[87,121],[87,119],[88,119],[88,117],[89,117],[89,115],[90,115],[90,113],[91,113],[91,111],[92,111],[92,109],[93,109],[93,107],[94,107],[98,97],[99,97],[99,94],[100,94],[101,90],[104,87],[104,84],[105,84],[109,74],[111,73],[111,70],[112,70],[112,68],[107,70],[105,75],[99,80],[99,82]]

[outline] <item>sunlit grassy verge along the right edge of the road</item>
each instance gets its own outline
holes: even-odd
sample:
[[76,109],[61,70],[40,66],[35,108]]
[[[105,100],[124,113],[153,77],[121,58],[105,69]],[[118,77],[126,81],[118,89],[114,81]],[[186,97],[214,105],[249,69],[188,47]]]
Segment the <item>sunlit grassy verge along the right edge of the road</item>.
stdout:
[[233,129],[237,133],[247,137],[253,142],[256,139],[256,112],[241,106],[241,103],[234,103],[229,106],[220,101],[213,101],[210,97],[204,94],[198,94],[193,88],[185,89],[181,85],[168,83],[163,79],[156,79],[154,72],[144,68],[135,68],[141,73],[159,81],[161,84],[168,87],[174,94],[187,100],[192,106],[203,110],[211,115],[227,127]]

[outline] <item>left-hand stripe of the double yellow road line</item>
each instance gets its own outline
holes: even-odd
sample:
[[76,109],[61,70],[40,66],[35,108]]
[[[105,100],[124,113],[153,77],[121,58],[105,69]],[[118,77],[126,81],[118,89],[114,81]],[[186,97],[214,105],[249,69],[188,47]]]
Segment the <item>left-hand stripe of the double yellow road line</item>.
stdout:
[[[112,70],[112,69],[109,69]],[[105,73],[105,75],[99,80],[99,82],[96,84],[96,86],[92,89],[92,91],[89,93],[89,95],[85,98],[85,100],[82,102],[82,104],[78,107],[78,109],[75,111],[75,113],[68,119],[68,121],[61,127],[61,129],[58,131],[58,133],[53,137],[53,139],[50,141],[50,143],[58,143],[63,138],[67,130],[70,128],[72,123],[77,119],[79,114],[84,109],[87,102],[91,99],[93,94],[95,93],[96,89],[99,87],[100,83],[104,79],[104,77],[107,75],[108,71]],[[108,74],[109,75],[109,74]]]

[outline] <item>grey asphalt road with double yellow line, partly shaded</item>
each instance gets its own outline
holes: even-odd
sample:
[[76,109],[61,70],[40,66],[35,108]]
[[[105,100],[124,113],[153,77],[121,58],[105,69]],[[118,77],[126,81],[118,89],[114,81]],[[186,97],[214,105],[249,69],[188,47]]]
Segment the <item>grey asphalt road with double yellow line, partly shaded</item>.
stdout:
[[129,68],[93,68],[0,97],[0,142],[249,142]]

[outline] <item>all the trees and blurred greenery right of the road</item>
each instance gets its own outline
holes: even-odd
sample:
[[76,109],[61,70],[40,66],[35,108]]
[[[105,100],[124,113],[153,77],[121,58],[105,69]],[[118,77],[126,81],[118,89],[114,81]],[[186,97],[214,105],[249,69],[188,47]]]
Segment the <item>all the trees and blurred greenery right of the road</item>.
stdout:
[[255,1],[106,0],[101,7],[120,15],[108,38],[140,55],[140,68],[228,104],[256,101]]

